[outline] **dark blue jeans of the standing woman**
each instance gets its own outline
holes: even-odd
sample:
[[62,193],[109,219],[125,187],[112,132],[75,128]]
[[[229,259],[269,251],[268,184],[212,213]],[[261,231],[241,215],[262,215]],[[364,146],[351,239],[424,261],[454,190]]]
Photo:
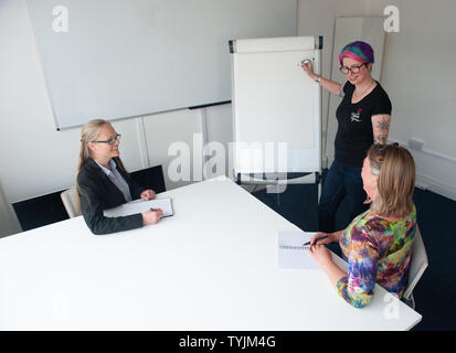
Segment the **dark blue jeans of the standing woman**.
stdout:
[[362,188],[361,170],[361,168],[333,161],[325,178],[320,203],[318,204],[318,227],[320,232],[340,231],[336,229],[336,212],[346,195],[350,222],[369,208],[369,205],[363,204],[367,194]]

